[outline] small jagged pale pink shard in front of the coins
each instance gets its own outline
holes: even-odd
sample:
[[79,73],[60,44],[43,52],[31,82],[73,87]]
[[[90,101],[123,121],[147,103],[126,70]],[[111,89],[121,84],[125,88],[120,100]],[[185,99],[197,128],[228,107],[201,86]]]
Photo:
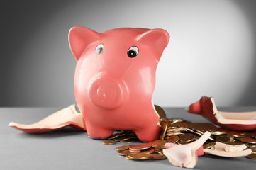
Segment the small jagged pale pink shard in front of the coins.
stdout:
[[186,145],[166,143],[165,147],[167,147],[167,149],[163,149],[163,154],[165,154],[169,162],[175,166],[194,168],[194,166],[196,166],[197,157],[204,154],[204,152],[202,152],[202,145],[210,136],[210,132],[205,132],[199,140]]

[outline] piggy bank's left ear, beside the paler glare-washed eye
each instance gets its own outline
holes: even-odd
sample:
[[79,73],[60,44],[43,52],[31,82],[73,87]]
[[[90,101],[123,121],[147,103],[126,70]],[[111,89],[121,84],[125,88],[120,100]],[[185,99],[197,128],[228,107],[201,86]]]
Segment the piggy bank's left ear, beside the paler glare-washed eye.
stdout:
[[79,60],[88,45],[99,40],[100,35],[100,33],[84,27],[73,27],[69,30],[69,47],[76,60]]

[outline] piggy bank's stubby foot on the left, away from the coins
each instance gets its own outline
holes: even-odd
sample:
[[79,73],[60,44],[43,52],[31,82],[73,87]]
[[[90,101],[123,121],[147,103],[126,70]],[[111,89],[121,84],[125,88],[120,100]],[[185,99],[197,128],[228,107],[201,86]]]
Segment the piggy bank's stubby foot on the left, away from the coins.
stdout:
[[91,122],[86,122],[87,134],[94,139],[104,139],[113,134],[114,130],[103,128]]

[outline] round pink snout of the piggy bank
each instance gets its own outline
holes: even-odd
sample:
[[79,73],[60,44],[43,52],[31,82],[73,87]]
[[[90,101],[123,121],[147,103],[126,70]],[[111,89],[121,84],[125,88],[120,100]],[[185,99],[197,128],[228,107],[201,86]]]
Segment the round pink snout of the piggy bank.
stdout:
[[115,79],[99,77],[89,86],[89,98],[100,108],[117,108],[126,98],[125,89]]

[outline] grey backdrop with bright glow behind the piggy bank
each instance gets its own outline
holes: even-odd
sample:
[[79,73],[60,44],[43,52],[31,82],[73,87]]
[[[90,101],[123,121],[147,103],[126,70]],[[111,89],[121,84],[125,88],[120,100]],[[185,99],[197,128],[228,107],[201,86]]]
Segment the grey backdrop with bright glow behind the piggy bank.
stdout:
[[255,7],[256,1],[1,1],[0,106],[75,103],[76,62],[67,41],[73,26],[166,29],[171,39],[153,96],[160,106],[188,106],[204,95],[217,106],[255,106]]

